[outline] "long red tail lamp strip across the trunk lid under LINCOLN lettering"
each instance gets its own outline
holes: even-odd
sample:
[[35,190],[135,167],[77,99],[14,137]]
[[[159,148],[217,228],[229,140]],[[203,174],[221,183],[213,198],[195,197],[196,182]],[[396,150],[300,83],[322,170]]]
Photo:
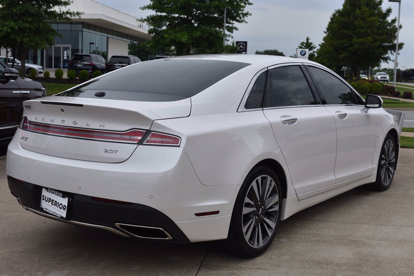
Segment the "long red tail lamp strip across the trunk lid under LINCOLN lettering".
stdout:
[[24,118],[23,120],[22,129],[26,131],[56,136],[76,137],[89,140],[116,141],[122,143],[138,143],[140,142],[142,136],[145,134],[145,131],[136,129],[125,132],[116,132],[99,131],[85,128],[70,128],[64,126],[52,126],[31,122],[27,120],[27,118]]

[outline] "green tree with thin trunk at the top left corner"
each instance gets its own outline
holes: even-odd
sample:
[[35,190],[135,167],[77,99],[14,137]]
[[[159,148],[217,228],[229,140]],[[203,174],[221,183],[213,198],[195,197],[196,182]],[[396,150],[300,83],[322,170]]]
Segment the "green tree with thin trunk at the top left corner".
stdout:
[[81,12],[65,10],[70,0],[0,0],[0,46],[18,50],[21,55],[20,76],[25,76],[26,50],[55,45],[59,32],[49,21],[71,21]]

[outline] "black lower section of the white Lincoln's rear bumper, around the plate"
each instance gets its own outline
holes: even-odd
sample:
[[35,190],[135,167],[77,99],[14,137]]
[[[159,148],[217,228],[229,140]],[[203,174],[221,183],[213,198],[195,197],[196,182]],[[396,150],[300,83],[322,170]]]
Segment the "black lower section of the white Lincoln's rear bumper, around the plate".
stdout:
[[[181,229],[169,217],[152,207],[137,203],[123,205],[101,202],[92,200],[91,196],[61,191],[70,197],[67,207],[67,221],[65,221],[44,212],[40,207],[41,186],[25,181],[19,183],[10,176],[7,176],[7,181],[11,193],[19,199],[19,203],[25,209],[36,214],[67,223],[102,228],[140,240],[149,238],[170,243],[190,243]],[[164,236],[168,238],[164,239],[162,232],[165,232]],[[154,238],[158,237],[156,235],[160,235],[159,238]],[[139,236],[147,238],[139,238]]]

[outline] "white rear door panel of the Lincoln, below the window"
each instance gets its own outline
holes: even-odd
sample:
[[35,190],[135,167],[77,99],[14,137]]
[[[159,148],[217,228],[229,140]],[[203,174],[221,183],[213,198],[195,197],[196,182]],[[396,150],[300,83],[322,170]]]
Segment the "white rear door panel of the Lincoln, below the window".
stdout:
[[296,194],[332,189],[337,143],[332,114],[323,106],[265,109],[263,112],[272,125]]

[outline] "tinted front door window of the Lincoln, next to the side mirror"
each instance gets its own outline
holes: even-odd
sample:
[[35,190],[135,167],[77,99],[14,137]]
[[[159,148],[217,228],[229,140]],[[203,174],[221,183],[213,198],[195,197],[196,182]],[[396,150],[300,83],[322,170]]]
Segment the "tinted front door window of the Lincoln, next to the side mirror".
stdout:
[[308,67],[326,100],[326,105],[356,105],[354,93],[337,77],[325,70]]

